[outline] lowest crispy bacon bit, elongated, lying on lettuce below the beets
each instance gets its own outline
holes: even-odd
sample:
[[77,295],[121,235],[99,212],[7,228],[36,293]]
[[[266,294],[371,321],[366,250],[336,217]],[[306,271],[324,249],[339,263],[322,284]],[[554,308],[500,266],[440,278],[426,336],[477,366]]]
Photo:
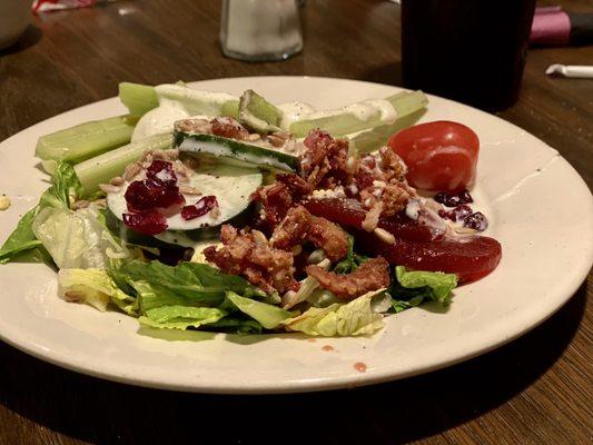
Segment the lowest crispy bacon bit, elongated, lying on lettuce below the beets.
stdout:
[[309,265],[307,274],[319,281],[319,286],[332,291],[338,298],[354,299],[372,290],[389,286],[389,264],[383,257],[363,263],[348,275],[327,271],[323,267]]

